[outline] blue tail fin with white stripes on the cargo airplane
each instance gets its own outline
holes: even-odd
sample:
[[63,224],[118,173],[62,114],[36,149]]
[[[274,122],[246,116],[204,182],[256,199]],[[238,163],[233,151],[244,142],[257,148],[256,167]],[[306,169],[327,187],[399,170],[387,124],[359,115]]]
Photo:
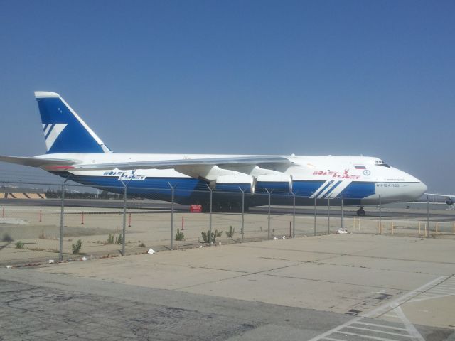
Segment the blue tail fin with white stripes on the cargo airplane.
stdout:
[[55,92],[35,92],[47,153],[112,153]]

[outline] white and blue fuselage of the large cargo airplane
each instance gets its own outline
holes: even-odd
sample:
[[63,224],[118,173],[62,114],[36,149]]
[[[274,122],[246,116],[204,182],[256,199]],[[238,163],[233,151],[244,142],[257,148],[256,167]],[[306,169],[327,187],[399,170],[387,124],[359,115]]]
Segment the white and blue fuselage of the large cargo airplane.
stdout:
[[[125,163],[161,160],[191,160],[210,158],[242,158],[241,155],[210,155],[210,154],[126,154],[126,153],[55,153],[37,156],[39,158],[68,158],[78,163],[100,165],[102,163]],[[289,205],[289,197],[296,195],[297,205],[308,205],[314,202],[331,199],[335,204],[345,200],[351,205],[378,205],[379,202],[395,202],[397,200],[415,200],[424,193],[426,186],[414,176],[383,163],[379,158],[365,156],[280,156],[288,158],[289,165],[276,165],[270,171],[289,175],[289,190],[274,190],[274,205]],[[216,167],[216,166],[215,166]],[[177,168],[177,169],[176,169]],[[73,170],[71,168],[46,169],[70,180],[90,185],[94,188],[106,189],[114,193],[122,193],[127,184],[130,194],[141,197],[156,197],[170,200],[171,186],[175,188],[175,200],[183,204],[201,202],[207,197],[213,185],[210,176],[216,178],[220,171],[237,171],[255,176],[255,170],[245,166],[223,166],[212,168],[207,178],[188,175],[190,168],[185,167],[183,173],[178,167],[170,169],[137,169],[137,170]],[[257,171],[257,170],[256,170]],[[215,173],[213,173],[215,172]],[[240,189],[226,193],[213,188],[214,193],[223,193],[225,200],[239,195]],[[272,190],[272,189],[271,189]],[[252,193],[251,193],[252,192]],[[249,205],[265,205],[267,191],[256,188],[249,191]]]

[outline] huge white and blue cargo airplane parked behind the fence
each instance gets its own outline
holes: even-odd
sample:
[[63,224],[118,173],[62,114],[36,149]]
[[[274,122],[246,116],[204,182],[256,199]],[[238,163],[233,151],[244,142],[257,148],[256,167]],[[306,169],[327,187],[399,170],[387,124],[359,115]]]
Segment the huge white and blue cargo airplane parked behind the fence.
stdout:
[[[245,205],[347,205],[414,200],[427,186],[380,158],[364,156],[265,156],[113,153],[75,111],[54,92],[35,92],[47,153],[35,157],[0,156],[0,161],[42,168],[94,188],[183,204],[208,205],[209,191],[218,210]],[[277,195],[275,195],[277,194]]]

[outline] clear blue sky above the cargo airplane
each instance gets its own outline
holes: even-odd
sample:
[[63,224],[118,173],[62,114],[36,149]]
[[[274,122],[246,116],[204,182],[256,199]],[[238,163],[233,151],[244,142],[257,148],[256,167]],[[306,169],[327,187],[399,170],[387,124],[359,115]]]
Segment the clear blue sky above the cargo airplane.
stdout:
[[4,155],[45,152],[53,91],[117,152],[363,154],[455,193],[455,1],[1,0],[0,85]]

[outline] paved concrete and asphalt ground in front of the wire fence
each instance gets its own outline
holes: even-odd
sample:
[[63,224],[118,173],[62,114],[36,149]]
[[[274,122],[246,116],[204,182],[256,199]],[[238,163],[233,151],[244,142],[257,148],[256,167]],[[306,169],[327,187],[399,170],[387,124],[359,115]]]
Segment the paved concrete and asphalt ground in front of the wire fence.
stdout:
[[2,340],[455,340],[453,239],[331,234],[0,269]]

